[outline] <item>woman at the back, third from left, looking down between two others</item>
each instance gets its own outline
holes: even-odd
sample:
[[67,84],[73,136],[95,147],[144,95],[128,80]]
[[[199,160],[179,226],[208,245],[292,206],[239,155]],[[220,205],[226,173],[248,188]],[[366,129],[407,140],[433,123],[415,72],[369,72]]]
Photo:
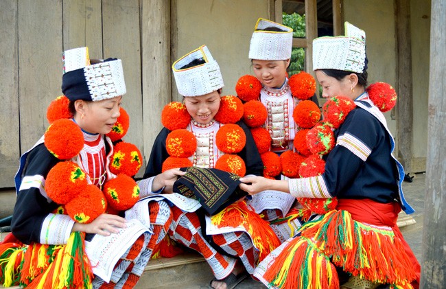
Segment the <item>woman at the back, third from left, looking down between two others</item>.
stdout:
[[[264,149],[266,137],[255,137],[257,147],[261,150],[262,155],[270,151],[277,154],[277,158],[274,159],[279,162],[283,161],[279,165],[265,165],[266,170],[263,172],[267,178],[285,179],[290,175],[297,175],[300,163],[287,157],[279,158],[279,156],[285,152],[301,154],[302,152],[294,149],[295,142],[305,143],[305,135],[299,134],[299,132],[305,128],[311,128],[319,120],[316,119],[310,125],[305,124],[305,126],[300,126],[301,123],[297,122],[297,119],[305,117],[303,115],[305,112],[296,111],[299,104],[309,102],[313,105],[314,111],[318,113],[319,107],[315,94],[316,80],[314,77],[305,71],[288,76],[287,68],[290,66],[292,54],[292,34],[293,31],[290,27],[267,19],[258,19],[249,47],[248,58],[253,67],[253,74],[257,78],[257,82],[261,84],[261,89],[257,93],[257,97],[250,97],[250,101],[244,104],[244,122],[253,130],[260,127],[269,133],[270,143],[266,150]],[[249,84],[254,82],[252,78]],[[246,76],[237,82],[236,91],[246,83],[244,80],[246,80]],[[255,86],[257,87],[257,85]],[[248,87],[245,91],[253,92]],[[242,96],[240,97],[244,100]],[[259,109],[258,103],[263,106],[264,113]],[[260,122],[261,117],[263,117],[263,122]],[[255,132],[253,132],[254,134]],[[258,131],[256,134],[258,135]],[[296,139],[296,136],[301,139]],[[271,154],[267,155],[272,156]],[[270,161],[272,157],[266,159]],[[303,159],[303,156],[298,156],[296,159]],[[274,174],[271,174],[269,168],[280,167],[279,174],[276,174],[275,171]],[[281,174],[284,170],[288,176]],[[297,205],[296,198],[292,198],[289,194],[272,191],[253,196],[248,204],[268,221],[284,218],[290,209]],[[299,220],[292,220],[292,222],[295,227],[301,226]],[[281,240],[290,238],[287,222],[274,222],[272,227]]]

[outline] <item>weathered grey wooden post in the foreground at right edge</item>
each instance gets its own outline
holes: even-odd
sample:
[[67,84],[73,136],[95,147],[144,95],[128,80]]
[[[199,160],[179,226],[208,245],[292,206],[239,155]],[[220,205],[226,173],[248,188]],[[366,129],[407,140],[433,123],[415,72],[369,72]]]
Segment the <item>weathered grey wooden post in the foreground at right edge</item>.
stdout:
[[420,288],[446,284],[446,5],[432,0],[425,216]]

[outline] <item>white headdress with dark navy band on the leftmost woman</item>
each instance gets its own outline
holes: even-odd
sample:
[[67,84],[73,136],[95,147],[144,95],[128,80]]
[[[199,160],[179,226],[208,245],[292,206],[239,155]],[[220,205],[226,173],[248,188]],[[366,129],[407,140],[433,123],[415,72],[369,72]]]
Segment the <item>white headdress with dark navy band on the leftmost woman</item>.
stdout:
[[[120,59],[90,60],[88,47],[64,51],[62,93],[69,100],[108,100],[126,94]],[[91,65],[91,62],[98,62]]]

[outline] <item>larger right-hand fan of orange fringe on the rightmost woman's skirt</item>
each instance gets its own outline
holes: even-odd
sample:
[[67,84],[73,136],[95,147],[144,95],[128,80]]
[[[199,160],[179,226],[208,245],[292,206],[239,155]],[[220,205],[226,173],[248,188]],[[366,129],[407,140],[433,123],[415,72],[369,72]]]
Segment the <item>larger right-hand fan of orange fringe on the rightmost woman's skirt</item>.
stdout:
[[302,235],[314,238],[316,246],[332,256],[333,264],[355,276],[380,284],[412,287],[412,262],[390,228],[362,224],[353,220],[348,211],[333,210]]

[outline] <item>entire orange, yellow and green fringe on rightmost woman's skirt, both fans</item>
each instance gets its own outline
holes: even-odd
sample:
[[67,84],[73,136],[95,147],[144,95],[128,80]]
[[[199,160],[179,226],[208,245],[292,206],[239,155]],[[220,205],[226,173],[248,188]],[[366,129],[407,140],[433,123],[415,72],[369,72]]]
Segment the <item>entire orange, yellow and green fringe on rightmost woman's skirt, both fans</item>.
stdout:
[[[395,288],[412,288],[412,262],[390,227],[356,222],[348,211],[333,210],[322,220],[304,224],[300,231],[301,237],[291,240],[268,267],[263,277],[270,284],[314,288],[317,280],[334,281],[336,271],[327,265],[331,258],[334,265],[355,276]],[[333,285],[331,281],[316,288],[331,288],[325,287]]]

